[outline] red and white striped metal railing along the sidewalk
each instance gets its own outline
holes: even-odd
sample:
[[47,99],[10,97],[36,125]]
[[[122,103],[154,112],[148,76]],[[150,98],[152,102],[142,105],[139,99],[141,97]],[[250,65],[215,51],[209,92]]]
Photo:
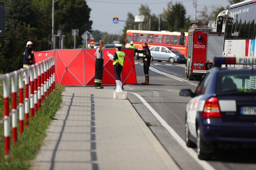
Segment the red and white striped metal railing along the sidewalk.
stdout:
[[[13,143],[17,141],[17,110],[19,109],[19,125],[20,133],[24,129],[24,107],[25,107],[25,126],[29,126],[29,102],[30,117],[33,118],[37,110],[40,109],[44,98],[55,89],[55,63],[54,56],[43,61],[33,64],[29,67],[6,73],[0,76],[0,80],[4,81],[4,119],[0,120],[0,126],[4,124],[5,137],[5,155],[10,151],[10,116],[12,116],[12,133]],[[25,72],[25,100],[23,73]],[[20,101],[17,106],[17,76],[19,76],[19,95]],[[9,86],[11,78],[12,91],[12,111],[10,112],[9,104]],[[30,89],[30,90],[29,90]]]

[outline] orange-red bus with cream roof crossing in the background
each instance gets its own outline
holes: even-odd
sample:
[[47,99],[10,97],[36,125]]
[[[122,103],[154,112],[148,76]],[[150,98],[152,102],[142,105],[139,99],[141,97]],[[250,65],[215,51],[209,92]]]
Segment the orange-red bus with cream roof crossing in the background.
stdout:
[[187,36],[186,32],[183,46],[179,44],[180,32],[127,30],[125,48],[129,48],[130,42],[133,41],[136,49],[142,49],[142,43],[147,42],[149,47],[153,45],[173,47],[187,58]]

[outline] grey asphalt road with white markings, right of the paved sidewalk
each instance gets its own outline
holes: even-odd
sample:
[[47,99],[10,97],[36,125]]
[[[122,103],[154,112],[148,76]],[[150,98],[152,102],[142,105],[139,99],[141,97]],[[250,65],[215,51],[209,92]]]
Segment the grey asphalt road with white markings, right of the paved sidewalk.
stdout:
[[[212,160],[202,161],[197,158],[195,148],[184,146],[185,107],[190,97],[179,96],[179,91],[184,88],[195,90],[199,84],[199,81],[188,81],[185,64],[151,62],[150,85],[143,86],[142,60],[135,60],[135,63],[138,84],[129,85],[129,100],[181,169],[256,169],[255,151],[221,150],[214,154]],[[148,109],[134,93],[140,95],[152,109]],[[168,124],[167,128],[152,112]]]

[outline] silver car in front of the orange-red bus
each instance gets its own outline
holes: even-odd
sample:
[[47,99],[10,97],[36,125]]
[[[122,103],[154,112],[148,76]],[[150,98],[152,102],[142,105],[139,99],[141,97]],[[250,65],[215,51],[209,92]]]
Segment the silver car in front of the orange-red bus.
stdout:
[[151,46],[149,49],[151,52],[151,61],[169,61],[170,63],[184,62],[181,57],[174,54],[172,51],[164,46]]

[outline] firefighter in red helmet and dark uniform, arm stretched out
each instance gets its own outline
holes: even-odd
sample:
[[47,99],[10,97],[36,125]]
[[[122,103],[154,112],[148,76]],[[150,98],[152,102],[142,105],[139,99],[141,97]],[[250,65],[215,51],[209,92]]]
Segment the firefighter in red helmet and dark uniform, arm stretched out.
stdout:
[[145,74],[145,82],[141,83],[142,85],[149,85],[149,66],[150,66],[150,60],[151,60],[151,53],[148,48],[148,43],[143,42],[142,43],[143,50],[137,50],[134,49],[135,52],[137,53],[143,53],[142,61],[143,61],[143,69],[144,69],[144,74]]

